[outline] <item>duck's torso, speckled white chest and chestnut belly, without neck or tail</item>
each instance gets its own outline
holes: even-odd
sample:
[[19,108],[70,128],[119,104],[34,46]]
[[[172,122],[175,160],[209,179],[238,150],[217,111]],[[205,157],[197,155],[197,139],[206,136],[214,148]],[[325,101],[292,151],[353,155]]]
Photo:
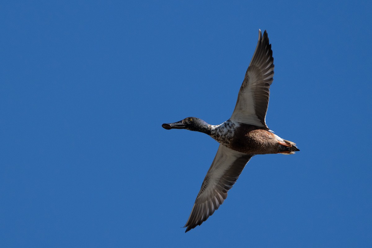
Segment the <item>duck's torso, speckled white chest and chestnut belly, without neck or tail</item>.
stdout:
[[278,152],[275,135],[257,126],[239,123],[226,123],[219,126],[212,138],[220,144],[246,154],[269,154]]

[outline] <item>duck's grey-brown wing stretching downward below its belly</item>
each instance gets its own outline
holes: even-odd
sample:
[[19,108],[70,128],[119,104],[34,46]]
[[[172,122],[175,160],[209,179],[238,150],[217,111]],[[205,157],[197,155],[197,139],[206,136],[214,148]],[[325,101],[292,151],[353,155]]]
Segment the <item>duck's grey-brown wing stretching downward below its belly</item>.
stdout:
[[184,227],[186,232],[201,225],[211,216],[227,197],[252,154],[244,154],[219,145],[216,157],[206,174],[196,197],[189,219]]

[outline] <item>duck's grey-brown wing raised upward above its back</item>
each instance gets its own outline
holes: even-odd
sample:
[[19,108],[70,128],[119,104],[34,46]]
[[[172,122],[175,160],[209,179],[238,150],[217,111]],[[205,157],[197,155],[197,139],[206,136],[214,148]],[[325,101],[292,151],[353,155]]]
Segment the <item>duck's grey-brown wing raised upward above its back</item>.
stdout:
[[249,64],[231,120],[269,129],[265,122],[273,82],[274,58],[267,32],[261,36]]

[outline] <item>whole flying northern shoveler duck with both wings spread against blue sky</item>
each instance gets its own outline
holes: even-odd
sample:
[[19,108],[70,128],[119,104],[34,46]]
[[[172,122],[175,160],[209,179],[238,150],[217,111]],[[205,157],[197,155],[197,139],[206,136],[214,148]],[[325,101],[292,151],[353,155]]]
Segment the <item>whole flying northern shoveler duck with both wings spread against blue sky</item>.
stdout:
[[274,58],[267,32],[261,33],[230,119],[210,125],[196,117],[164,123],[165,129],[188,129],[206,133],[219,142],[186,222],[186,232],[201,225],[224,202],[247,162],[256,154],[294,154],[296,144],[270,132],[265,122],[273,82]]

